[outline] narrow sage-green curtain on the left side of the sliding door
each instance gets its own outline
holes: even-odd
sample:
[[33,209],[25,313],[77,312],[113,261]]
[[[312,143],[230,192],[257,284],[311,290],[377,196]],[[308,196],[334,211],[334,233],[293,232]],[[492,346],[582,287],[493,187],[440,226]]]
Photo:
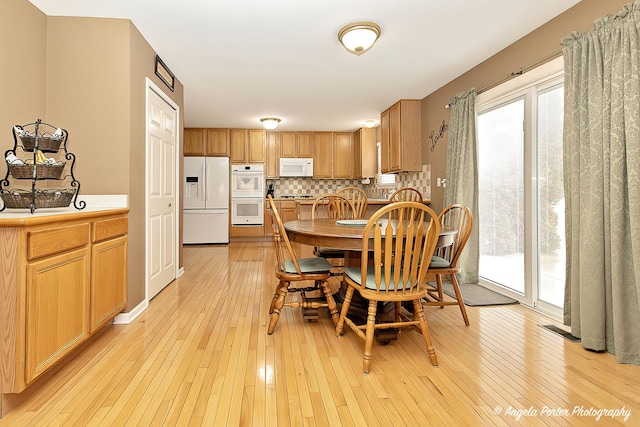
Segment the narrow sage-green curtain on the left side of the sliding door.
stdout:
[[460,283],[478,283],[478,148],[476,138],[476,90],[460,92],[449,100],[449,140],[444,206],[461,203],[473,213],[473,229],[460,260]]

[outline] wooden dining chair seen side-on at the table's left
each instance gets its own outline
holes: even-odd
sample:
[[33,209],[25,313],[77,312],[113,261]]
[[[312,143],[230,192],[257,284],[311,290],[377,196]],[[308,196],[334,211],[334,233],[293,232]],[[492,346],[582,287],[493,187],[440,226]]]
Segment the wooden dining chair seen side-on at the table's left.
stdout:
[[[319,307],[328,307],[334,325],[337,324],[339,317],[338,309],[331,294],[329,284],[327,283],[333,266],[329,261],[320,257],[296,257],[296,253],[291,246],[273,198],[269,195],[267,199],[271,206],[273,242],[276,253],[276,278],[278,279],[278,285],[276,286],[276,291],[273,295],[271,306],[269,307],[271,319],[267,333],[269,335],[273,333],[280,319],[280,311],[284,306],[313,310],[317,310]],[[301,284],[299,287],[291,287],[292,282],[306,281],[313,281],[314,285],[304,286]],[[325,302],[323,302],[322,298],[307,298],[307,293],[315,291],[324,293]],[[300,293],[300,300],[286,301],[287,294],[293,292]]]

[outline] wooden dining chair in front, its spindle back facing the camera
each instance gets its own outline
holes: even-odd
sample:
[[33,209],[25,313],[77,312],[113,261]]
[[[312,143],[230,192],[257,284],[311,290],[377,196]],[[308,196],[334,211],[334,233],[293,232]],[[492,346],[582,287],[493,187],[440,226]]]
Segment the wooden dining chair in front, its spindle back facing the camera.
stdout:
[[[404,212],[407,210],[410,212]],[[364,339],[363,372],[369,372],[371,366],[376,329],[403,326],[419,326],[431,363],[438,365],[420,301],[425,296],[423,283],[439,233],[440,223],[436,213],[418,202],[389,204],[376,211],[364,227],[361,265],[344,269],[347,291],[336,325],[337,336],[342,334],[346,323],[358,337]],[[370,244],[373,245],[372,263],[369,262]],[[364,325],[357,324],[358,319],[349,315],[349,306],[356,290],[369,301]],[[400,305],[404,301],[413,303],[412,318],[400,315]],[[378,302],[394,303],[394,322],[376,323]]]

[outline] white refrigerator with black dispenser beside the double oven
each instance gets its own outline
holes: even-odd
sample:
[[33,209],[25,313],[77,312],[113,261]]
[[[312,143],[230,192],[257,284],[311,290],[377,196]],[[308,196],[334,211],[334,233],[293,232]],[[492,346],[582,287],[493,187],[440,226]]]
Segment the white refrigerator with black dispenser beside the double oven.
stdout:
[[185,157],[185,244],[229,243],[229,158]]

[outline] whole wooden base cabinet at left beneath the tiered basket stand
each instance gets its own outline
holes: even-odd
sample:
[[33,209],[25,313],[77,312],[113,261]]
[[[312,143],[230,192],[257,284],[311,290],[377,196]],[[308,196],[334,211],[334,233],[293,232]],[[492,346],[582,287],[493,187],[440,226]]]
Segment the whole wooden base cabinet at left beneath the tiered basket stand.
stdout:
[[127,212],[0,218],[0,393],[24,390],[125,307]]

